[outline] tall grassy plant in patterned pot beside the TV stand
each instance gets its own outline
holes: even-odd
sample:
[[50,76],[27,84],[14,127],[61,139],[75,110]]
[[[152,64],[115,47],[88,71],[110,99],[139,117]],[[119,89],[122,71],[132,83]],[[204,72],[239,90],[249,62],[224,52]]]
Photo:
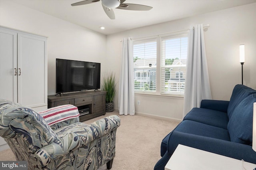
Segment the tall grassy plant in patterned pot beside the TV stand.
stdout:
[[106,91],[106,112],[114,111],[114,96],[116,94],[116,79],[114,72],[105,72],[102,80],[102,90]]

